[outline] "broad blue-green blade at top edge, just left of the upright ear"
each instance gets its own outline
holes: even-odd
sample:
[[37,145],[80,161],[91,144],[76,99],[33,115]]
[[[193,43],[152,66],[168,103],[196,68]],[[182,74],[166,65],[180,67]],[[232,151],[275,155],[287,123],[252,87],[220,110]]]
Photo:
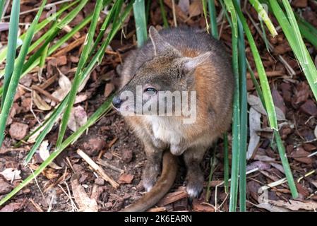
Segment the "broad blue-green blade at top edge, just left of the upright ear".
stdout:
[[136,38],[138,47],[141,47],[148,39],[148,30],[145,20],[145,2],[144,0],[136,0],[133,3],[133,16],[136,23]]

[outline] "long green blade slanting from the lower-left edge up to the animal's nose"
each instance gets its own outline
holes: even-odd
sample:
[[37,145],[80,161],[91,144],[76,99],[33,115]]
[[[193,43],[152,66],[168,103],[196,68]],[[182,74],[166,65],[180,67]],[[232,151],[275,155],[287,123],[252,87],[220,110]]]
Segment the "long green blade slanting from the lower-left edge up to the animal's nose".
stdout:
[[28,185],[32,179],[35,179],[44,169],[47,167],[65,148],[70,145],[71,143],[74,143],[81,134],[85,132],[86,129],[88,129],[92,124],[95,123],[102,115],[107,113],[109,109],[111,109],[111,100],[112,97],[109,97],[106,102],[104,102],[98,109],[97,111],[92,114],[92,116],[88,119],[88,121],[85,123],[85,125],[81,126],[75,133],[71,134],[60,146],[59,149],[55,150],[47,160],[42,162],[40,167],[35,170],[33,174],[30,174],[29,177],[27,177],[23,182],[21,182],[18,186],[16,186],[15,189],[13,189],[9,194],[7,194],[4,198],[1,199],[0,201],[0,206],[4,205],[6,201],[8,201],[10,198],[12,198],[15,194],[18,193],[21,189],[23,189],[26,185]]

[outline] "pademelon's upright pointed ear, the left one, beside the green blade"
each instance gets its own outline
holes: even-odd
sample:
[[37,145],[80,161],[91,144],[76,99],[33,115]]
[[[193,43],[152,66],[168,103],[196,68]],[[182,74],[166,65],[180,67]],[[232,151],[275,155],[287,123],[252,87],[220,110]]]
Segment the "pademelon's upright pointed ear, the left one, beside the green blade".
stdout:
[[148,32],[149,32],[150,39],[151,39],[152,44],[153,44],[155,56],[162,55],[162,54],[180,55],[179,51],[177,51],[177,49],[172,47],[171,44],[166,42],[164,40],[164,37],[162,37],[153,26],[150,26]]

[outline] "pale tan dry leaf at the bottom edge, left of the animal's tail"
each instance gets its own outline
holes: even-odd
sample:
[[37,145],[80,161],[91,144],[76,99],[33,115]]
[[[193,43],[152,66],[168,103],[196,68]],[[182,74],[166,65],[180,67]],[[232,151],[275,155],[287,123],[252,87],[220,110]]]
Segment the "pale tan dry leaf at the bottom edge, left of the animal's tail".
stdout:
[[78,174],[74,174],[71,178],[71,189],[73,191],[73,198],[75,199],[79,210],[83,212],[97,212],[97,201],[89,198],[89,196],[85,193],[83,186],[79,184],[78,178]]

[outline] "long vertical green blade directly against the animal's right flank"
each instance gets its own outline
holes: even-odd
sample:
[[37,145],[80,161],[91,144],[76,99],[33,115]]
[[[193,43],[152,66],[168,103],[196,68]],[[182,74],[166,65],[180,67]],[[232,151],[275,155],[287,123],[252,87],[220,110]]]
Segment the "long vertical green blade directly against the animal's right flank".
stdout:
[[239,97],[239,60],[238,60],[238,22],[232,1],[225,0],[227,11],[232,19],[232,68],[234,72],[234,101],[232,117],[232,168],[230,182],[229,211],[237,210],[239,186],[239,154],[240,154],[240,97]]

